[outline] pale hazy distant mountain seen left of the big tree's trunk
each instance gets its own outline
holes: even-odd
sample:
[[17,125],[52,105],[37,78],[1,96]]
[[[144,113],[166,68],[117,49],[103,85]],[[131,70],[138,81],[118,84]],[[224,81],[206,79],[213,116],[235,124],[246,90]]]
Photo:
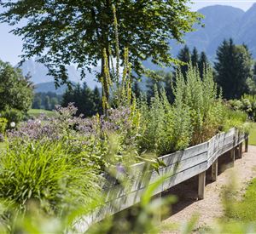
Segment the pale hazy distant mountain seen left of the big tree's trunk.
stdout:
[[[47,76],[48,70],[43,64],[34,60],[26,60],[22,66],[20,66],[20,69],[22,70],[23,75],[27,75],[29,73],[32,76],[32,82],[36,85],[39,84],[38,87],[48,91],[52,91],[55,87],[54,78]],[[99,71],[99,68],[96,67],[95,70]],[[69,80],[73,83],[83,83],[85,81],[90,88],[99,86],[99,83],[97,83],[95,79],[96,76],[89,72],[86,74],[85,79],[81,81],[80,72],[75,68],[75,66],[67,66],[67,73]],[[47,89],[47,87],[49,89]],[[40,88],[38,88],[38,90],[41,90]],[[66,89],[65,86],[63,88]]]

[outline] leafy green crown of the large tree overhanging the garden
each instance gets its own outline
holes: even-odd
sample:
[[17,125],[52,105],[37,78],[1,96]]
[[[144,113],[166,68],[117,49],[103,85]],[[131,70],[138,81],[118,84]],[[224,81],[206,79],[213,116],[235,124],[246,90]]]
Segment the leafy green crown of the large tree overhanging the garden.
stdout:
[[70,63],[78,65],[84,77],[85,70],[90,71],[101,60],[103,73],[103,49],[113,51],[117,41],[113,6],[119,21],[120,54],[124,54],[125,47],[130,49],[132,70],[141,74],[141,60],[150,58],[154,63],[170,65],[169,40],[182,42],[183,34],[192,31],[200,16],[190,11],[187,3],[189,0],[97,3],[76,0],[65,4],[8,1],[1,2],[5,11],[0,20],[12,26],[26,20],[25,26],[19,25],[13,31],[23,37],[23,58],[36,55],[49,68],[50,75],[67,82],[65,66]]

